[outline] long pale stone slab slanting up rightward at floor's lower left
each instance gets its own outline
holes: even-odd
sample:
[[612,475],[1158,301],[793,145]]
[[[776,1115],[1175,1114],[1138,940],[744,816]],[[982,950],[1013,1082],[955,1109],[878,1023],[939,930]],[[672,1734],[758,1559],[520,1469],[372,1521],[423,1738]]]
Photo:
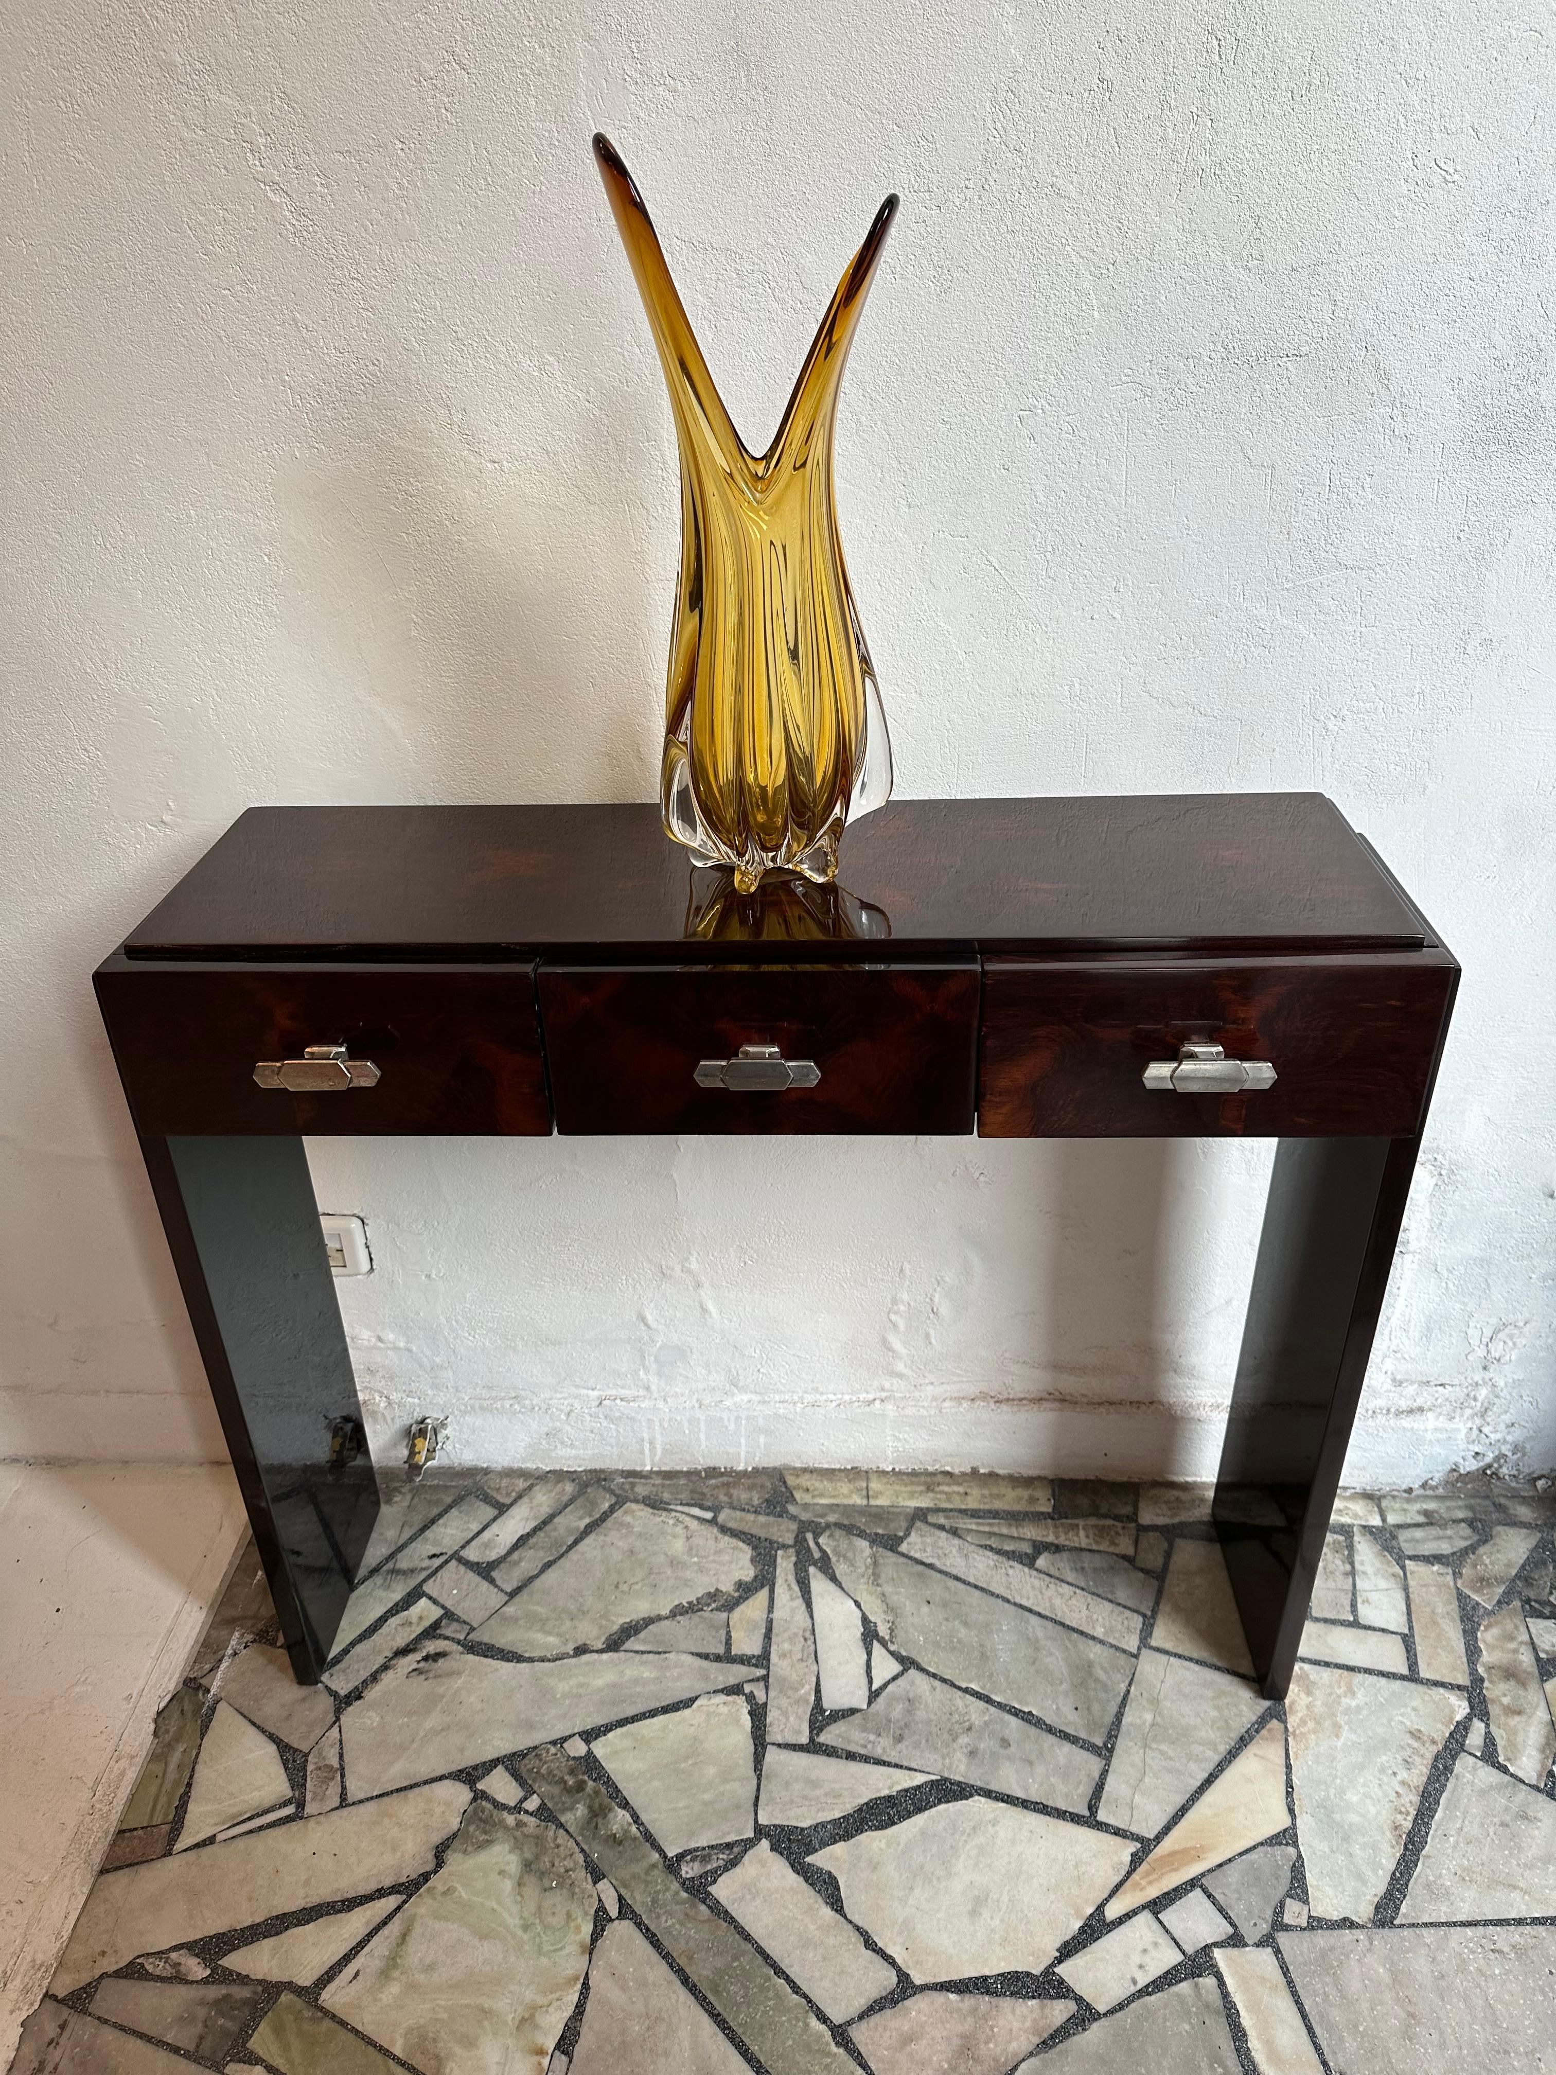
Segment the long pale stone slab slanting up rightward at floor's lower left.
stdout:
[[50,1986],[68,1996],[137,1953],[232,1932],[284,1909],[342,1903],[427,1874],[469,1799],[469,1787],[459,1780],[436,1780],[369,1807],[336,1809],[102,1874]]

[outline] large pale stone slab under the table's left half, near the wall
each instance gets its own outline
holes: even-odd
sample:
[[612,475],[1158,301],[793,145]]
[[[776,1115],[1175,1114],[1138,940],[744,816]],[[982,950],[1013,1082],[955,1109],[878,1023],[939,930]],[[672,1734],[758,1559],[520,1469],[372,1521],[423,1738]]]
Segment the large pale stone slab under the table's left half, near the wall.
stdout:
[[600,1648],[645,1614],[670,1614],[687,1600],[749,1585],[753,1575],[751,1550],[734,1536],[687,1513],[629,1502],[517,1592],[475,1635],[523,1658],[566,1656]]

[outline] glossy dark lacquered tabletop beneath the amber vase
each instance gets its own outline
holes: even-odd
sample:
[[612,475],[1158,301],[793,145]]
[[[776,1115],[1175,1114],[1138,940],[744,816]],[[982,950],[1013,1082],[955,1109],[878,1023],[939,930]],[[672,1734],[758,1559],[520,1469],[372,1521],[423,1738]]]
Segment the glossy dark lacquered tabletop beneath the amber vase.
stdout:
[[834,892],[741,901],[656,807],[253,807],[127,940],[131,957],[739,959],[911,950],[1409,948],[1421,917],[1317,793],[892,801]]

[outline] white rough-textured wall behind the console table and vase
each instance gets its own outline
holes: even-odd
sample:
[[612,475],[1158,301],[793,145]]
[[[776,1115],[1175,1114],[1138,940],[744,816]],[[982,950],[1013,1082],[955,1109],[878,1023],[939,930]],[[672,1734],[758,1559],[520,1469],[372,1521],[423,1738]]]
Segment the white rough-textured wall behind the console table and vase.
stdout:
[[[0,15],[10,1453],[220,1446],[95,959],[255,801],[645,799],[672,436],[589,133],[766,440],[888,187],[840,498],[905,795],[1313,786],[1465,961],[1351,1475],[1556,1459],[1552,15]],[[1214,1450],[1268,1152],[313,1147],[382,1432]]]

